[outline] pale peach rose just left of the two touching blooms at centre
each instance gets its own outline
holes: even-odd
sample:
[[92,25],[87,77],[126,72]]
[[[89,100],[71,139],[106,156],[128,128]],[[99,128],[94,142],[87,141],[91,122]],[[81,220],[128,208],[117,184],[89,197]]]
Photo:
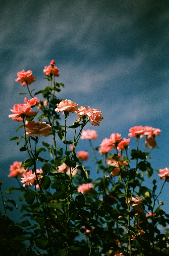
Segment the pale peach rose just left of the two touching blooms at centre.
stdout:
[[[56,108],[55,108],[55,111],[56,112],[60,112],[60,111],[68,111],[68,112],[71,112],[71,113],[76,113],[78,111],[78,104],[74,103],[73,101],[71,100],[62,100],[60,103],[57,103],[56,104]],[[64,113],[63,113],[64,115]]]

